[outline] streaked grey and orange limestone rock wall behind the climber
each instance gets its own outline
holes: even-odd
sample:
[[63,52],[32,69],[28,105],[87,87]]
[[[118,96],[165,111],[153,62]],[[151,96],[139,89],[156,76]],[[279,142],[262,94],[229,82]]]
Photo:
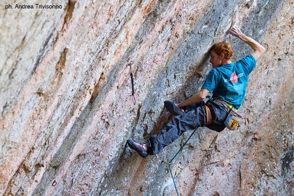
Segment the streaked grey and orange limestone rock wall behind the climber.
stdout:
[[[197,92],[208,49],[232,20],[267,52],[250,76],[241,128],[198,128],[172,164],[180,195],[294,195],[293,0],[0,3],[0,195],[176,195],[169,161],[144,141]],[[12,5],[5,10],[5,5]],[[136,104],[131,93],[133,61]]]

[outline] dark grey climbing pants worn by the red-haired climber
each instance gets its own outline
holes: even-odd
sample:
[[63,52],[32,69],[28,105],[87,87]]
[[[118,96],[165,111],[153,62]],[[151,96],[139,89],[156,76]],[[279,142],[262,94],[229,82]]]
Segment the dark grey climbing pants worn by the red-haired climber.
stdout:
[[[204,104],[211,110],[213,120],[211,124],[205,124],[206,111]],[[177,115],[174,117],[158,135],[152,135],[146,141],[148,145],[148,154],[158,154],[165,146],[170,145],[170,143],[178,139],[178,137],[187,130],[206,126],[211,130],[221,132],[226,127],[224,125],[224,120],[226,120],[227,113],[221,109],[219,104],[213,102],[213,100],[208,100],[206,103],[201,101],[185,109],[184,115]]]

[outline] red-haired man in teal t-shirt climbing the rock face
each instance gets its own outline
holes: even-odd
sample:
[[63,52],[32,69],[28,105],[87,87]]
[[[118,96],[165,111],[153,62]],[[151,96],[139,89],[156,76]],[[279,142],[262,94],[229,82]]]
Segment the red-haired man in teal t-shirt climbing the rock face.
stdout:
[[[232,46],[228,42],[214,44],[209,50],[211,56],[209,62],[213,69],[209,72],[200,92],[179,104],[165,101],[165,108],[176,116],[158,135],[152,135],[144,143],[127,140],[129,147],[140,156],[145,158],[148,154],[158,154],[186,130],[202,126],[217,132],[224,130],[228,110],[237,111],[241,106],[249,74],[255,68],[256,61],[265,53],[263,46],[245,36],[235,25],[230,27],[228,33],[248,44],[253,52],[236,63],[232,63]],[[212,91],[212,99],[204,102],[204,98]]]

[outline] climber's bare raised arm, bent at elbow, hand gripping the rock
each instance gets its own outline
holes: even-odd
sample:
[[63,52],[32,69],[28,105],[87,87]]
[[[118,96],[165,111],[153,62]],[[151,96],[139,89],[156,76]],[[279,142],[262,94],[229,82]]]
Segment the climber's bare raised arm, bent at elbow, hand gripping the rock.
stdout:
[[232,25],[230,29],[228,30],[228,33],[230,33],[232,36],[236,36],[246,44],[248,44],[254,51],[251,53],[251,55],[254,57],[254,59],[257,61],[263,53],[265,53],[265,48],[260,45],[258,42],[253,40],[252,38],[249,38],[248,36],[245,36],[241,30],[236,27],[235,25]]

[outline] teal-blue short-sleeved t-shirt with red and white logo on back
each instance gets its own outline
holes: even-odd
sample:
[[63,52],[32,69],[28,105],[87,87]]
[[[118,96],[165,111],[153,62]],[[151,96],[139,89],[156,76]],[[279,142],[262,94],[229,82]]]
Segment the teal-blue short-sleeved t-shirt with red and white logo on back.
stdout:
[[202,89],[213,91],[213,98],[221,98],[235,109],[239,109],[245,97],[249,74],[256,66],[252,55],[236,63],[213,68],[202,85]]

